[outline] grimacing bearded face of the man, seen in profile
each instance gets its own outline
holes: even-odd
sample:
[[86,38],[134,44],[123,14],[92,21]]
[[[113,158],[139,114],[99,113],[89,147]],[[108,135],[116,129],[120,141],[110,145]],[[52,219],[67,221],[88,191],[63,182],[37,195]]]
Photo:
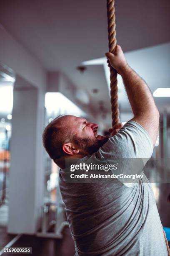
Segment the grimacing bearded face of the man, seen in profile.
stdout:
[[62,119],[66,130],[69,129],[73,134],[73,142],[86,154],[93,154],[108,140],[108,137],[97,133],[96,123],[73,115],[65,115]]

